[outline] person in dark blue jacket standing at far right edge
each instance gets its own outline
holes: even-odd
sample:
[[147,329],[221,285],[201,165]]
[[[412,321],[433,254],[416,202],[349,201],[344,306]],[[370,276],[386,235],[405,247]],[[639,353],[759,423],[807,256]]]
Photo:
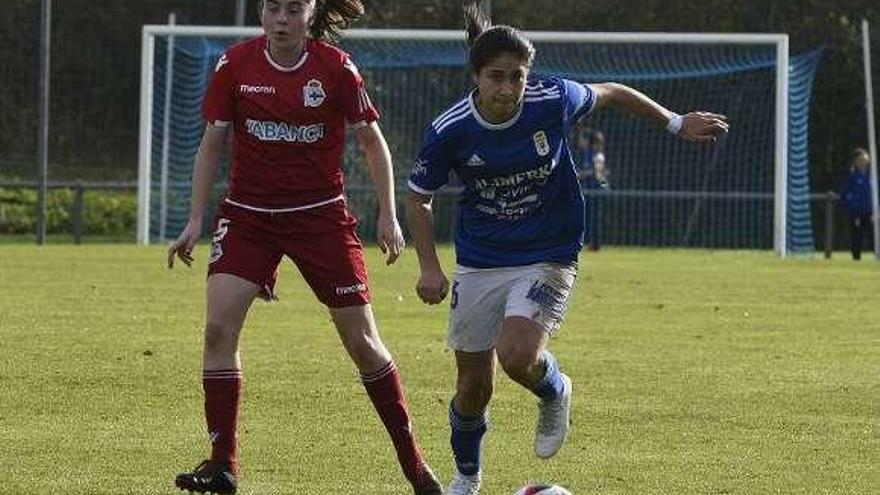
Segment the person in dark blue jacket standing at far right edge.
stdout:
[[862,257],[862,240],[865,235],[872,238],[871,180],[868,173],[870,162],[867,151],[862,148],[853,150],[849,175],[840,187],[840,199],[849,215],[850,250],[854,260]]

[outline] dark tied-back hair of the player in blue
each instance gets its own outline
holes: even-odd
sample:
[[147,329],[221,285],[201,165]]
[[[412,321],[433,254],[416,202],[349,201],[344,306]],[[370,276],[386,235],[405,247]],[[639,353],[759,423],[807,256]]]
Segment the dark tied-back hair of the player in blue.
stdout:
[[511,26],[493,26],[481,8],[482,0],[473,0],[464,7],[468,61],[474,73],[503,53],[512,53],[527,66],[535,58],[535,47],[520,31]]

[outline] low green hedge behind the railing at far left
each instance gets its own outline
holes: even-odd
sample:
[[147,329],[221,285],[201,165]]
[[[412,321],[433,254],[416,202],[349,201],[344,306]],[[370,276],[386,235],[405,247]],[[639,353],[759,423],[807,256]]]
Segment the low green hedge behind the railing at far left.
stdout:
[[[46,197],[46,232],[64,234],[74,227],[74,190],[50,189]],[[0,188],[0,234],[34,232],[37,192]],[[137,228],[137,195],[128,191],[85,191],[82,232],[88,235],[126,235]]]

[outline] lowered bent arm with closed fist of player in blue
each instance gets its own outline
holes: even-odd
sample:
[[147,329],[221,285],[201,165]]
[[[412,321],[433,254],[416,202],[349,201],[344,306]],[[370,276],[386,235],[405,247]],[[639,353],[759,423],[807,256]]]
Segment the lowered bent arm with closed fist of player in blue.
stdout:
[[406,224],[419,258],[416,294],[427,304],[439,304],[449,291],[449,280],[440,267],[434,245],[433,196],[410,191],[406,197]]

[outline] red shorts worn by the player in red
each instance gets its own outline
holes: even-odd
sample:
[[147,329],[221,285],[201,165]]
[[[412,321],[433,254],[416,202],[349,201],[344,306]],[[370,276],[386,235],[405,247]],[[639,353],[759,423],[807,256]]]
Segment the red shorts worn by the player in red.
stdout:
[[357,220],[336,201],[309,210],[263,213],[223,203],[214,220],[208,275],[230,273],[274,298],[281,257],[299,268],[315,296],[330,307],[370,302]]

